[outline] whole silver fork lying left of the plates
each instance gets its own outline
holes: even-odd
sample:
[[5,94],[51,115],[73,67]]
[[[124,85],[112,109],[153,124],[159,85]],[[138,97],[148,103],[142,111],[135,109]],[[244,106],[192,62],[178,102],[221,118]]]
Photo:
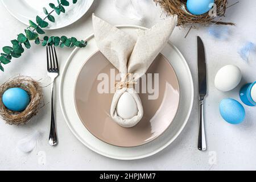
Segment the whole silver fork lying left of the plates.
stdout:
[[49,133],[49,144],[51,146],[56,146],[58,143],[57,138],[57,130],[56,130],[56,123],[55,123],[55,114],[54,114],[54,85],[55,85],[55,78],[59,76],[59,64],[57,60],[56,50],[55,47],[47,46],[47,71],[48,76],[51,78],[51,130]]

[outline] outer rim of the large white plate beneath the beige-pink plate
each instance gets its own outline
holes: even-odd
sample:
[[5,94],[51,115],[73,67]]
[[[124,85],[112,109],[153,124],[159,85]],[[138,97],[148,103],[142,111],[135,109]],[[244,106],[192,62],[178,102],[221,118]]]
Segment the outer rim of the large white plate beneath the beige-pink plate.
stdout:
[[[145,29],[145,27],[142,26],[135,26],[135,25],[129,25],[129,24],[123,24],[123,25],[118,25],[115,26],[117,28],[142,28]],[[89,35],[88,37],[85,38],[86,41],[91,40],[94,37],[94,34]],[[185,57],[181,54],[181,52],[179,51],[179,49],[177,49],[176,46],[174,46],[170,40],[168,41],[168,44],[170,44],[171,47],[173,47],[175,49],[175,51],[179,54],[179,56],[185,60]],[[69,55],[67,61],[64,64],[64,69],[61,73],[61,77],[60,77],[60,85],[59,85],[59,100],[60,100],[60,107],[61,107],[61,112],[63,113],[63,117],[65,119],[65,122],[67,123],[69,130],[71,130],[71,132],[73,133],[73,135],[75,135],[75,137],[82,143],[84,144],[84,146],[86,146],[87,148],[89,148],[90,150],[92,150],[93,152],[96,152],[97,154],[100,154],[102,156],[106,156],[108,158],[111,159],[118,159],[118,160],[137,160],[137,159],[143,159],[143,158],[147,158],[149,156],[155,155],[158,152],[164,150],[164,148],[166,148],[167,146],[169,146],[172,142],[174,142],[174,140],[180,135],[180,133],[183,131],[185,125],[187,125],[189,117],[191,116],[191,112],[192,112],[192,107],[193,107],[193,102],[194,102],[194,83],[193,83],[193,78],[192,78],[192,73],[191,70],[189,69],[188,63],[185,60],[185,69],[187,69],[188,73],[189,73],[189,81],[191,82],[191,101],[190,101],[190,105],[189,105],[189,110],[188,110],[188,114],[185,117],[185,121],[183,123],[183,125],[181,125],[180,129],[177,131],[177,133],[175,134],[175,136],[168,140],[168,142],[166,142],[165,144],[163,144],[163,146],[159,147],[157,150],[154,150],[148,154],[144,154],[144,155],[139,155],[139,156],[132,156],[132,157],[122,157],[122,156],[113,156],[113,155],[109,155],[106,153],[101,152],[100,150],[97,150],[96,148],[91,147],[90,145],[86,144],[82,138],[75,132],[75,130],[73,129],[73,127],[71,126],[71,123],[69,123],[68,121],[68,117],[67,117],[67,113],[65,113],[64,111],[64,104],[63,104],[63,100],[62,100],[62,90],[63,90],[63,79],[64,79],[64,73],[67,72],[67,65],[69,64],[69,62],[72,60],[72,57],[76,54],[76,52],[79,50],[79,48],[75,48],[71,55]]]

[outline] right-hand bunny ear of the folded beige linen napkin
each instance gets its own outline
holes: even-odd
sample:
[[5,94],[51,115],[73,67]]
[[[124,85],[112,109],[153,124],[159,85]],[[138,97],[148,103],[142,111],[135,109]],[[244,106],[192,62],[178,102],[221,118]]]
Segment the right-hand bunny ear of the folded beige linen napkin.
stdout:
[[128,62],[128,73],[134,74],[134,80],[147,72],[152,61],[166,46],[176,25],[177,15],[174,15],[148,30],[139,30],[137,42]]

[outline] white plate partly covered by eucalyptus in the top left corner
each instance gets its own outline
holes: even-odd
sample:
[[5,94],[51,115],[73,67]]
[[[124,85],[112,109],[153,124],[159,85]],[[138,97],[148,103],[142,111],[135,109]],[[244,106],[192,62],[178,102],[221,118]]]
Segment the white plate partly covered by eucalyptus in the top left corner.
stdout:
[[[66,12],[57,15],[55,12],[52,14],[55,16],[55,23],[49,22],[49,26],[44,28],[48,30],[54,30],[57,28],[63,28],[75,23],[79,20],[92,6],[94,0],[80,0],[76,4],[70,1],[69,6],[65,6]],[[6,9],[20,22],[28,25],[28,20],[34,20],[36,15],[45,17],[43,13],[43,7],[46,7],[48,12],[51,9],[49,3],[55,3],[56,0],[2,0],[3,5]]]

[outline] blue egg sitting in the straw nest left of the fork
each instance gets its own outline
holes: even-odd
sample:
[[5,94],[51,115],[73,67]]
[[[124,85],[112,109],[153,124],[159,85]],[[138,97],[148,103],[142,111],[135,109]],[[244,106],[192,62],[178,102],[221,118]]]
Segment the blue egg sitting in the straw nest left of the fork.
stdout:
[[10,88],[3,93],[3,104],[9,110],[23,111],[30,103],[30,96],[21,88]]

